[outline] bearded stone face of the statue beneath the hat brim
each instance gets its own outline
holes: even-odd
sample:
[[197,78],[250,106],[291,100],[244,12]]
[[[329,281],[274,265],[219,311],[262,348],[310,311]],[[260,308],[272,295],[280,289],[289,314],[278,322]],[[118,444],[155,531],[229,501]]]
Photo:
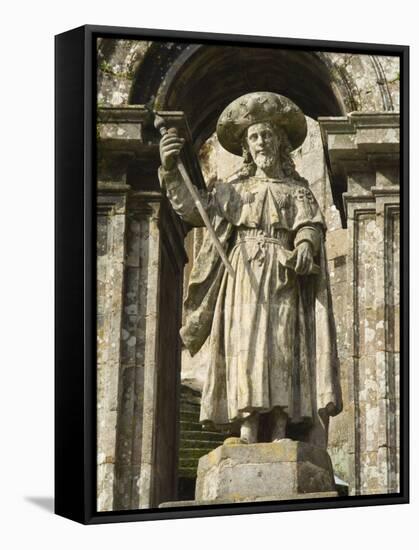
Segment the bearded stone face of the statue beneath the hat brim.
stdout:
[[246,146],[258,168],[271,168],[279,159],[279,137],[268,122],[247,129]]

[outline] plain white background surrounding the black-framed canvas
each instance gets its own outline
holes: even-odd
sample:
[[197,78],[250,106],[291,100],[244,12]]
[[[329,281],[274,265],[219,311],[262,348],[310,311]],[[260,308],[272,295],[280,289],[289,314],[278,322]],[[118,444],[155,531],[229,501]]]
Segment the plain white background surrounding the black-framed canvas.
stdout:
[[[412,281],[416,281],[415,3],[399,0],[90,0],[2,3],[1,432],[2,548],[414,547],[419,400],[412,334],[412,504],[84,527],[51,513],[53,495],[54,34],[102,24],[409,44],[412,69]],[[415,127],[416,126],[416,127]],[[416,207],[415,207],[416,205]],[[418,292],[413,283],[412,320]],[[416,325],[417,326],[417,325]],[[414,327],[414,325],[413,325]],[[416,534],[416,536],[415,536]],[[404,542],[402,542],[404,539]],[[415,542],[413,542],[415,541]]]

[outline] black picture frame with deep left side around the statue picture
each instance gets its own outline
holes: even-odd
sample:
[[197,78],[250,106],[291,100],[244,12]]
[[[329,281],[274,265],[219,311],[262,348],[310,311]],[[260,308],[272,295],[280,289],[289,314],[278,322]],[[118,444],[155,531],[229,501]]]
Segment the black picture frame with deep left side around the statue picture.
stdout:
[[[400,493],[96,511],[96,39],[265,45],[400,57]],[[409,502],[409,47],[86,25],[55,38],[55,513],[84,524]]]

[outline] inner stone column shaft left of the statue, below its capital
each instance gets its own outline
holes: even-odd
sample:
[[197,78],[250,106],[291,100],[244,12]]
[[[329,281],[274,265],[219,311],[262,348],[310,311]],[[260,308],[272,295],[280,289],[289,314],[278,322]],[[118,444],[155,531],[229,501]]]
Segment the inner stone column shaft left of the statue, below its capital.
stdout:
[[114,509],[176,498],[183,236],[159,191],[131,193]]

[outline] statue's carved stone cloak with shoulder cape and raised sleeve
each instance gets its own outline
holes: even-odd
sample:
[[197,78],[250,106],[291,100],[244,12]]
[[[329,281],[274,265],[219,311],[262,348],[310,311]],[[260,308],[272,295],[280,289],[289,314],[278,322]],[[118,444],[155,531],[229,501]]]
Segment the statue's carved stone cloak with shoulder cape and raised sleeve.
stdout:
[[[176,172],[168,173],[162,170],[159,175],[162,185],[167,189],[168,198],[178,214],[192,225],[202,226],[202,220],[200,221],[200,217],[197,216],[194,203],[185,190],[179,177],[180,175]],[[301,181],[294,182],[288,180],[278,183],[280,184],[279,186],[274,185],[275,192],[268,193],[272,197],[271,199],[269,199],[269,196],[268,198],[265,196],[262,202],[259,201],[262,205],[262,210],[266,210],[266,203],[269,203],[269,200],[274,203],[274,206],[269,204],[267,208],[268,218],[272,218],[272,220],[269,220],[269,224],[273,221],[275,226],[279,228],[283,227],[285,231],[294,236],[298,236],[300,231],[303,233],[306,232],[301,240],[311,240],[311,237],[307,236],[307,232],[310,233],[310,230],[313,231],[313,227],[318,228],[321,226],[324,228],[324,221],[308,186],[302,184]],[[252,195],[255,194],[251,193],[251,191],[258,191],[257,186],[259,184],[260,182],[252,183],[251,179],[249,179],[247,182],[239,182],[236,185],[232,182],[220,184],[216,189],[217,197],[205,192],[203,193],[203,200],[204,202],[207,201],[208,212],[211,213],[213,227],[228,256],[230,256],[233,247],[237,245],[240,227],[249,229],[265,226],[266,212],[259,210],[260,219],[250,219],[247,214],[251,211],[251,208],[245,204],[248,198],[250,197],[251,199]],[[281,197],[285,197],[287,193],[284,192],[281,194],[279,191],[277,192],[277,189],[280,189],[282,184],[285,190],[292,189],[294,194],[293,201],[295,208],[291,221],[286,219],[287,216],[285,214],[287,209],[282,208],[284,205],[282,204]],[[252,185],[256,185],[256,187],[252,187]],[[269,190],[269,188],[270,185],[268,184],[267,189]],[[276,198],[273,198],[274,195]],[[256,206],[258,205],[256,204]],[[265,220],[263,223],[262,219]],[[297,244],[297,237],[295,237],[294,246],[297,246]],[[295,387],[298,384],[305,387],[305,394],[303,398],[300,398],[297,395],[298,391],[294,392],[293,389],[290,390],[293,394],[291,395],[290,403],[294,400],[296,404],[295,406],[292,404],[287,412],[290,421],[295,423],[307,420],[307,417],[316,422],[317,416],[322,416],[323,418],[325,415],[333,416],[338,414],[342,409],[336,333],[323,238],[319,238],[317,244],[316,261],[320,268],[319,274],[296,277],[299,299],[297,303],[298,324],[295,329],[295,340],[299,344],[295,345],[293,339],[292,343],[294,348],[298,350],[298,353],[304,352],[304,357],[301,361],[301,368],[297,364],[298,358],[295,359],[296,366],[295,368],[293,367],[295,372],[291,374],[291,377],[294,379]],[[282,261],[280,263],[282,264]],[[206,234],[192,268],[188,295],[184,303],[185,322],[180,331],[182,340],[192,355],[200,350],[209,337],[213,323],[215,322],[215,314],[220,314],[220,304],[218,303],[217,305],[217,311],[216,304],[220,291],[225,292],[227,278],[224,264],[209,235]],[[231,406],[229,407],[228,403],[227,386],[230,380],[227,380],[229,374],[227,372],[228,369],[226,369],[226,358],[223,356],[223,343],[221,341],[217,342],[217,339],[219,339],[217,334],[214,337],[218,349],[215,350],[215,353],[214,350],[211,352],[212,361],[209,365],[202,396],[201,421],[222,426],[224,424],[231,424],[239,416],[243,417],[249,414],[252,399],[248,403],[249,406],[241,410],[237,407],[237,404],[234,404],[232,412],[232,408]],[[315,353],[312,350],[315,350]],[[250,361],[247,361],[247,363],[246,368],[251,368]],[[260,365],[257,365],[258,369],[259,367]],[[266,373],[266,370],[263,372]],[[253,384],[253,381],[249,379],[246,383]],[[308,391],[307,387],[310,388]],[[231,388],[229,395],[230,397],[232,395]],[[268,401],[269,399],[270,397],[268,397]],[[309,402],[309,405],[304,403],[305,408],[304,406],[299,407],[298,401],[302,400]],[[273,403],[272,406],[277,405]],[[309,414],[307,414],[308,406],[311,408]],[[301,409],[300,412],[304,411],[304,414],[300,414],[299,409]],[[269,407],[261,407],[260,410],[261,412],[265,412],[269,410]]]

